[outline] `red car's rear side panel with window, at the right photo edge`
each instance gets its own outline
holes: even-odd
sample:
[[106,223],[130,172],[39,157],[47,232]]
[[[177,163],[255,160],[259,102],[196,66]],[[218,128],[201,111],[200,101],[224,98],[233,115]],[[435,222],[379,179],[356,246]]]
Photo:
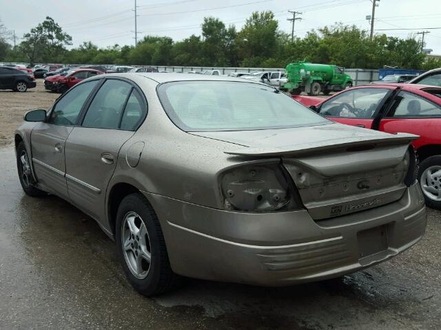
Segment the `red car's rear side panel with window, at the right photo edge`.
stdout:
[[[409,91],[400,91],[380,121],[380,131],[420,135],[413,142],[417,149],[424,144],[440,144],[441,107],[435,102]],[[435,138],[439,136],[438,138]]]

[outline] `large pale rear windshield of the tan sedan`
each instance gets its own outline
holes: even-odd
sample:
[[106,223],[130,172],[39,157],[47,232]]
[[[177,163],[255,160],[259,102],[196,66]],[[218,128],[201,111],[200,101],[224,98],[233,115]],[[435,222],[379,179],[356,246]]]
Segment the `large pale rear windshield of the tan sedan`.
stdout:
[[329,124],[274,88],[232,81],[180,81],[158,87],[167,115],[183,131],[243,131]]

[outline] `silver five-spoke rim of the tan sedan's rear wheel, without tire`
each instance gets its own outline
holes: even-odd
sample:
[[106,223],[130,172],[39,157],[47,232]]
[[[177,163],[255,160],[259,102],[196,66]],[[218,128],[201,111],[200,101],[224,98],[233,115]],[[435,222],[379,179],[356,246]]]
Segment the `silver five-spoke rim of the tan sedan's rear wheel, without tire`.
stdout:
[[135,212],[125,214],[121,228],[121,245],[130,272],[140,280],[146,278],[152,263],[152,248],[147,227]]

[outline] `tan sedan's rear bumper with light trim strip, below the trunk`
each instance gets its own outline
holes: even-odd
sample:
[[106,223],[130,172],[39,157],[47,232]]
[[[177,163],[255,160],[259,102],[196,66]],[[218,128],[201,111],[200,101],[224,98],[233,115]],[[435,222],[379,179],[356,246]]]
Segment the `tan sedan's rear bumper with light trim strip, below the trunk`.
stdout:
[[[161,221],[174,272],[214,281],[282,286],[333,278],[410,248],[426,228],[418,184],[399,201],[321,221],[306,210],[246,214],[144,193]],[[386,237],[376,239],[374,230],[373,242],[385,245],[366,255],[372,237],[360,232],[371,228],[382,228]]]

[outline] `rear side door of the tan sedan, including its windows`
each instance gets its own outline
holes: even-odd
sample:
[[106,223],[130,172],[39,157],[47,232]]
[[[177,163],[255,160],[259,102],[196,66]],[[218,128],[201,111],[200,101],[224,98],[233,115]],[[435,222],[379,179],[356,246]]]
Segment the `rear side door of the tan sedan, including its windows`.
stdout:
[[136,115],[127,108],[147,111],[141,95],[131,83],[107,78],[83,114],[81,126],[75,127],[66,141],[70,201],[98,221],[105,219],[105,190],[119,150],[134,134],[130,123],[136,122]]

